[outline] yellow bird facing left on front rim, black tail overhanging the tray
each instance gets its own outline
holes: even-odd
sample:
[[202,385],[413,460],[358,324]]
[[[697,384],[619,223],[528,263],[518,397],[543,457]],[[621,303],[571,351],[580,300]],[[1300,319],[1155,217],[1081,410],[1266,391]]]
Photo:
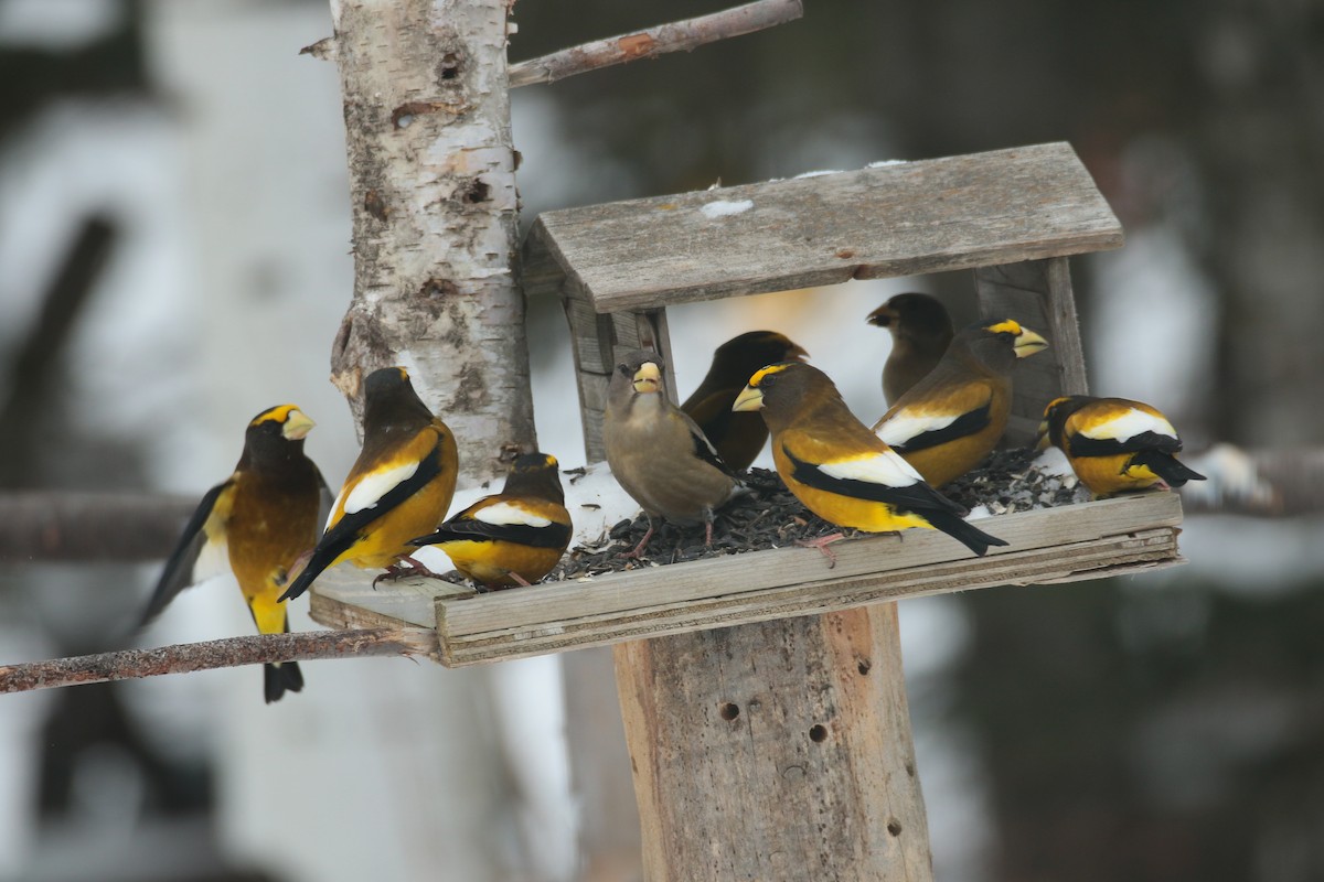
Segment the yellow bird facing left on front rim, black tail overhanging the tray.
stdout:
[[[825,521],[869,533],[936,529],[978,555],[990,545],[1006,545],[961,520],[967,510],[924,483],[855,419],[817,368],[796,361],[769,365],[749,378],[735,407],[763,411],[777,473]],[[828,554],[826,542],[813,545]]]

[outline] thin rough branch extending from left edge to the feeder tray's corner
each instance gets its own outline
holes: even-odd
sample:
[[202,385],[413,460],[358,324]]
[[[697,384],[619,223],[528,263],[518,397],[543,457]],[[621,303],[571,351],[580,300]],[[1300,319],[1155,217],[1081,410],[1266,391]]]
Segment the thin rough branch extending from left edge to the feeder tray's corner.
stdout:
[[266,633],[207,643],[183,643],[159,649],[122,649],[94,656],[0,665],[0,693],[234,668],[267,661],[416,655],[437,657],[434,631],[364,628]]

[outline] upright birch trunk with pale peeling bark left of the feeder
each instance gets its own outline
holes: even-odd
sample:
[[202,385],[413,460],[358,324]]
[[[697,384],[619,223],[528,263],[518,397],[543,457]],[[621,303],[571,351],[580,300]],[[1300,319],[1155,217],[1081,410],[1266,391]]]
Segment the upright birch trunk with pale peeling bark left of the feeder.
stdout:
[[354,301],[332,382],[402,365],[455,432],[462,483],[535,443],[514,282],[507,0],[332,1],[354,208]]

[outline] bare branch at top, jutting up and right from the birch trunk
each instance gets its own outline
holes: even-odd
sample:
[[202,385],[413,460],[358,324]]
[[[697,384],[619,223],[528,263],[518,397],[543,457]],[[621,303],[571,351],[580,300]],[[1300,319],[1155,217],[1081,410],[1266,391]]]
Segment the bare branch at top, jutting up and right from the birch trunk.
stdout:
[[753,33],[794,21],[805,15],[801,0],[757,0],[712,15],[674,21],[636,33],[594,40],[511,65],[510,87],[551,83],[598,67],[655,58],[669,52],[690,52],[707,42]]

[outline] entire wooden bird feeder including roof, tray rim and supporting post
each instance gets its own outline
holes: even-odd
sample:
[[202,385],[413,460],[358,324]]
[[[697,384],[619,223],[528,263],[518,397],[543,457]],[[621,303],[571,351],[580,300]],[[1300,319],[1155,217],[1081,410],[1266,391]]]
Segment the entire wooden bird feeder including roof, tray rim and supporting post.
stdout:
[[[974,271],[982,316],[1050,342],[1014,377],[1008,442],[1025,444],[1045,402],[1087,391],[1067,258],[1120,245],[1071,147],[1042,144],[544,213],[523,280],[565,305],[591,461],[617,358],[670,356],[666,307],[957,268]],[[834,567],[781,547],[486,595],[330,573],[311,612],[434,628],[449,666],[617,644],[650,882],[927,882],[887,602],[1169,566],[1180,522],[1176,493],[1143,493],[981,522],[1009,542],[984,558],[908,530],[839,542]]]

